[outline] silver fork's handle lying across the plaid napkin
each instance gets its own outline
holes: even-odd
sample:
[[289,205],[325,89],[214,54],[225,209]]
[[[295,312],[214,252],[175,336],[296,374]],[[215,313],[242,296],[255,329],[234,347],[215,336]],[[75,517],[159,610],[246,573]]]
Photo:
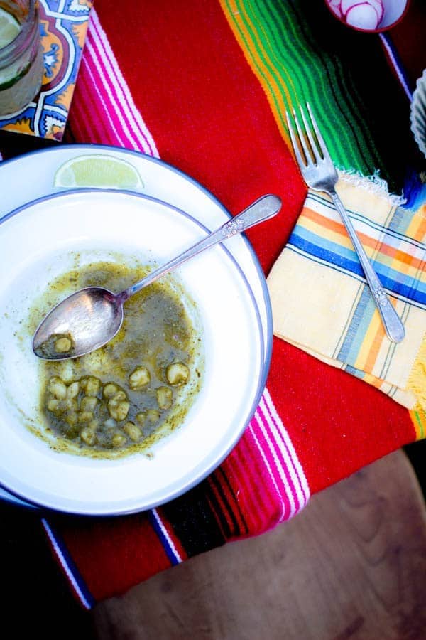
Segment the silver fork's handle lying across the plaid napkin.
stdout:
[[393,305],[389,301],[388,294],[386,294],[386,290],[383,289],[382,284],[378,279],[378,275],[373,270],[371,262],[368,260],[364,247],[361,245],[361,242],[359,242],[354,226],[351,223],[349,215],[346,213],[346,209],[344,208],[341,199],[337,195],[336,191],[329,191],[329,196],[331,196],[334,206],[342,217],[346,231],[348,232],[356,254],[359,257],[359,262],[361,262],[361,267],[364,270],[368,285],[371,289],[373,300],[376,303],[379,314],[381,315],[386,334],[392,342],[401,342],[405,336],[404,325],[393,308]]

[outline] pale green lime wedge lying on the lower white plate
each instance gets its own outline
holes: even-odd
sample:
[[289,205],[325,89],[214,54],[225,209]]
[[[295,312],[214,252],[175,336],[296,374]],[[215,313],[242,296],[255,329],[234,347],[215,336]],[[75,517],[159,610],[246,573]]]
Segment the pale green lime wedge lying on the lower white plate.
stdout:
[[137,191],[143,181],[133,164],[114,156],[77,156],[62,164],[55,174],[57,187],[121,188]]

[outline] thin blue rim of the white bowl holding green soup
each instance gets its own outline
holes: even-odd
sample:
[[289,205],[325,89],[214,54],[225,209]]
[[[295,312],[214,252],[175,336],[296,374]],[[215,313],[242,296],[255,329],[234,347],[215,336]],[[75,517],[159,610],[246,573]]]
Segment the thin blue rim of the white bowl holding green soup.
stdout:
[[[33,201],[28,202],[16,209],[13,209],[11,212],[7,213],[6,215],[4,215],[2,218],[0,218],[0,225],[3,225],[4,223],[6,223],[8,220],[10,220],[11,218],[14,218],[16,215],[18,215],[19,213],[28,210],[28,208],[31,208],[34,205],[37,205],[39,203],[43,203],[45,201],[50,201],[50,200],[55,200],[55,199],[61,199],[61,198],[66,198],[67,196],[72,196],[72,195],[81,195],[82,193],[114,193],[114,194],[122,194],[125,196],[131,196],[133,198],[139,198],[143,201],[151,201],[151,202],[155,202],[155,203],[160,203],[163,206],[166,206],[172,210],[175,210],[176,213],[183,215],[185,218],[187,218],[188,220],[191,220],[192,223],[194,223],[195,225],[197,225],[197,227],[199,227],[200,229],[204,230],[206,233],[209,232],[209,228],[204,225],[203,223],[200,223],[199,220],[196,220],[195,218],[193,218],[192,215],[190,215],[189,213],[185,213],[185,211],[180,210],[179,208],[170,205],[169,203],[165,203],[161,200],[159,200],[158,198],[153,198],[152,196],[146,196],[143,193],[138,193],[135,191],[126,191],[125,189],[104,189],[104,188],[76,188],[76,189],[67,189],[65,191],[60,191],[58,193],[51,193],[48,196],[41,196],[40,198],[35,198]],[[231,216],[229,216],[231,217]],[[243,236],[243,234],[239,234],[241,236]],[[249,242],[246,238],[244,238],[244,240],[246,240],[246,242]],[[259,314],[259,310],[258,310],[258,304],[256,302],[256,297],[253,294],[253,290],[251,289],[251,285],[246,277],[246,274],[244,274],[244,271],[241,269],[241,267],[239,266],[238,261],[236,260],[236,257],[234,257],[234,255],[231,254],[231,252],[224,246],[223,243],[220,243],[220,245],[218,245],[227,255],[227,257],[229,258],[229,260],[231,260],[231,262],[233,263],[234,267],[236,268],[236,270],[239,272],[241,279],[243,280],[245,286],[246,286],[246,290],[247,292],[249,292],[249,296],[251,298],[251,302],[253,304],[253,309],[255,310],[255,314],[256,314],[256,320],[257,320],[257,326],[258,326],[258,336],[259,336],[259,341],[260,341],[260,348],[261,348],[261,361],[263,362],[263,365],[261,366],[261,370],[259,371],[259,379],[258,379],[258,385],[256,388],[256,395],[255,398],[253,400],[253,402],[251,403],[251,406],[249,408],[249,410],[246,411],[246,415],[244,417],[244,420],[241,422],[241,427],[239,427],[239,430],[236,431],[236,434],[234,434],[234,437],[231,439],[231,442],[229,442],[229,444],[226,446],[226,449],[224,451],[222,451],[219,455],[217,455],[217,457],[214,459],[213,462],[211,462],[208,466],[207,469],[204,469],[204,471],[202,471],[202,473],[198,474],[197,477],[195,477],[195,479],[193,479],[192,481],[190,481],[190,483],[186,484],[184,487],[177,489],[176,491],[173,491],[170,493],[170,495],[167,496],[167,498],[163,498],[160,501],[155,501],[153,503],[149,503],[146,506],[135,506],[134,508],[129,508],[129,509],[123,509],[121,511],[110,511],[110,512],[98,512],[98,511],[78,511],[78,510],[74,510],[74,509],[62,509],[62,508],[57,508],[57,507],[53,507],[53,506],[48,506],[45,505],[43,503],[38,503],[37,501],[31,500],[30,498],[28,498],[27,496],[23,496],[21,494],[18,493],[18,491],[15,491],[13,489],[10,489],[8,486],[4,485],[3,482],[0,481],[0,488],[3,489],[4,491],[6,491],[7,493],[11,494],[11,496],[14,496],[15,498],[18,498],[19,503],[17,503],[17,506],[23,506],[23,507],[27,507],[28,508],[38,508],[41,511],[47,511],[47,512],[58,512],[58,513],[67,513],[69,515],[77,515],[77,516],[96,516],[96,517],[111,517],[111,516],[123,516],[123,515],[127,515],[127,514],[131,514],[131,513],[138,513],[141,511],[148,511],[148,509],[151,508],[155,508],[157,506],[160,506],[164,503],[167,503],[175,498],[178,498],[179,496],[181,496],[182,494],[187,493],[187,491],[190,491],[190,489],[192,489],[194,486],[197,486],[197,484],[200,484],[200,482],[202,480],[204,480],[209,474],[211,474],[215,469],[217,469],[217,467],[222,464],[222,462],[224,461],[224,459],[229,455],[229,453],[232,451],[232,449],[234,449],[234,447],[236,447],[236,444],[238,444],[239,439],[242,437],[244,431],[246,430],[246,427],[249,425],[249,422],[251,420],[251,418],[253,417],[254,413],[256,412],[256,408],[258,407],[258,404],[261,400],[261,396],[263,394],[263,390],[265,388],[266,385],[266,379],[268,378],[268,373],[269,373],[269,367],[271,364],[271,358],[269,357],[268,359],[265,358],[265,344],[264,344],[264,339],[263,339],[263,326],[262,326],[262,321],[261,321],[261,316]],[[271,326],[271,332],[272,332],[272,326]],[[270,336],[270,332],[268,331],[268,338],[271,337],[271,341],[272,341],[272,333]],[[4,498],[3,498],[4,499]],[[13,503],[16,503],[15,501],[13,501]]]

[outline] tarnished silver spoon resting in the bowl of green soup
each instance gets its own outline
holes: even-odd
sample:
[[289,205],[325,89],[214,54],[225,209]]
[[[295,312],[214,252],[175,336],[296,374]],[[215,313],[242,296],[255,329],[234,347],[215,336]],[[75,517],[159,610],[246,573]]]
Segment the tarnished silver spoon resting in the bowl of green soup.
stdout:
[[87,287],[71,294],[45,316],[35,331],[35,355],[44,360],[66,360],[84,356],[84,353],[103,346],[118,333],[124,319],[123,304],[133,294],[218,242],[272,218],[280,208],[278,196],[262,196],[219,229],[128,289],[114,294],[103,287]]

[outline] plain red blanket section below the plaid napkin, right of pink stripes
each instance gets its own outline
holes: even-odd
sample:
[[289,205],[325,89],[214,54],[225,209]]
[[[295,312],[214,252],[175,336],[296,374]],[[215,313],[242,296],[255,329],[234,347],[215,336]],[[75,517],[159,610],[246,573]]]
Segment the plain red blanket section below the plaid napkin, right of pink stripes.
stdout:
[[408,410],[274,338],[268,388],[313,493],[415,439]]

